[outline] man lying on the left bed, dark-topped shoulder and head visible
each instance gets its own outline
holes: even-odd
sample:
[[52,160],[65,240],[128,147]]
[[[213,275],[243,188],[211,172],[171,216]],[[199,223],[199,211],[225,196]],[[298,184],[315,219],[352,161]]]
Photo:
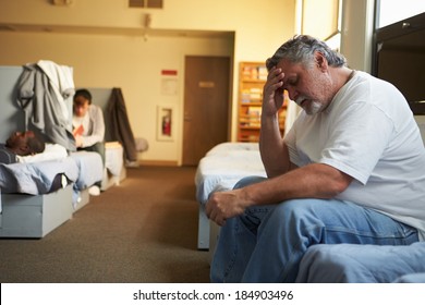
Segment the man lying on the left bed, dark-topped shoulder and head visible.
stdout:
[[0,144],[0,163],[16,163],[17,156],[32,156],[45,150],[46,143],[32,131],[15,132]]

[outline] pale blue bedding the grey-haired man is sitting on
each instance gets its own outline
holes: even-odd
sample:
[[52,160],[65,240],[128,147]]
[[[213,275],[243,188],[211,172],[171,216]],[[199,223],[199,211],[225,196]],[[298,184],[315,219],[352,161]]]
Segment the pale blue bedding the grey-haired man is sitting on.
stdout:
[[[425,242],[405,246],[314,245],[305,253],[296,282],[390,283],[425,281]],[[413,276],[415,274],[415,276]],[[412,278],[411,278],[412,277]]]

